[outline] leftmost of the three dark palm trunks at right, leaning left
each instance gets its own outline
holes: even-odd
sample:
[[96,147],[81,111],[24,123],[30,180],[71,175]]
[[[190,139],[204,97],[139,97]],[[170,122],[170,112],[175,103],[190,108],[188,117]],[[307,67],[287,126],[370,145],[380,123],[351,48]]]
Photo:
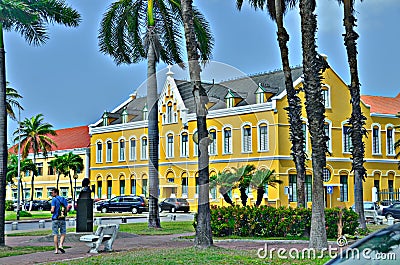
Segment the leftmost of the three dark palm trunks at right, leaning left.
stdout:
[[301,101],[293,87],[292,71],[289,64],[289,49],[287,47],[289,34],[283,25],[281,0],[275,0],[275,10],[278,43],[281,52],[283,73],[285,74],[286,97],[288,101],[286,110],[289,116],[290,140],[292,142],[291,150],[297,174],[297,206],[306,207],[307,202],[304,192],[306,153],[304,151],[305,139],[302,130],[303,122],[301,120]]

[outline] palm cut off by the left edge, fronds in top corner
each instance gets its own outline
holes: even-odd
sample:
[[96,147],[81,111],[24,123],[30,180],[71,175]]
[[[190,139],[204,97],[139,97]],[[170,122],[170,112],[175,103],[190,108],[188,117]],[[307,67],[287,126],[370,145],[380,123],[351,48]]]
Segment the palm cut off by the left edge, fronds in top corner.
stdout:
[[[4,31],[20,33],[29,44],[40,45],[48,39],[46,25],[78,26],[80,15],[62,0],[0,1],[0,209],[5,207],[7,170],[6,63]],[[5,244],[5,213],[0,212],[0,246]]]

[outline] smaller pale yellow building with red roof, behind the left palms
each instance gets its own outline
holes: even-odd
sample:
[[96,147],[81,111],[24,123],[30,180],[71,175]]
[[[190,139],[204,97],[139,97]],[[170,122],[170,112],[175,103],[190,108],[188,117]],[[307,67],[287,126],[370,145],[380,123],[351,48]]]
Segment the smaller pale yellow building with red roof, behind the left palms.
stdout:
[[[66,128],[56,130],[56,136],[49,136],[57,144],[53,146],[52,150],[48,152],[47,158],[44,158],[42,154],[36,156],[36,166],[38,168],[38,176],[34,179],[34,199],[47,200],[51,198],[51,190],[56,187],[57,183],[57,172],[54,168],[49,166],[49,162],[55,158],[55,155],[62,156],[69,152],[79,155],[83,159],[84,169],[82,172],[78,172],[78,178],[76,179],[76,192],[82,188],[82,180],[89,178],[90,165],[90,137],[89,129],[87,126],[79,126],[74,128]],[[14,152],[14,147],[10,149]],[[16,152],[15,152],[16,153]],[[29,159],[33,160],[33,153],[28,155]],[[25,200],[31,199],[31,177],[32,172],[23,172],[21,174],[21,183],[23,187],[23,194]],[[75,180],[73,181],[73,190],[75,190]],[[7,199],[17,199],[17,186],[7,186]],[[61,175],[59,180],[60,195],[66,198],[72,198],[71,187],[69,178]],[[73,191],[72,191],[73,192]],[[21,198],[22,199],[22,198]]]

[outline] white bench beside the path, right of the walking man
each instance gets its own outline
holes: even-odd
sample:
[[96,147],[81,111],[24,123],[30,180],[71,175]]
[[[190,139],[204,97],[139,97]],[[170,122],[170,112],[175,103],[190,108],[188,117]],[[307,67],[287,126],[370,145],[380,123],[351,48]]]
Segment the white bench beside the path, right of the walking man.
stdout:
[[81,236],[79,240],[86,242],[90,247],[88,253],[99,253],[101,244],[104,244],[104,251],[112,251],[112,245],[117,237],[118,230],[118,224],[99,225],[93,235]]

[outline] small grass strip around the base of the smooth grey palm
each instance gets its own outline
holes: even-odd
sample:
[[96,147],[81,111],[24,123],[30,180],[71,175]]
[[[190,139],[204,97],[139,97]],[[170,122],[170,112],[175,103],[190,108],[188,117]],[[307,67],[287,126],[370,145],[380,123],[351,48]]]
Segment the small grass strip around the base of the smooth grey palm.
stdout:
[[161,229],[150,229],[147,223],[121,224],[120,232],[137,235],[171,235],[194,233],[192,222],[161,222]]

